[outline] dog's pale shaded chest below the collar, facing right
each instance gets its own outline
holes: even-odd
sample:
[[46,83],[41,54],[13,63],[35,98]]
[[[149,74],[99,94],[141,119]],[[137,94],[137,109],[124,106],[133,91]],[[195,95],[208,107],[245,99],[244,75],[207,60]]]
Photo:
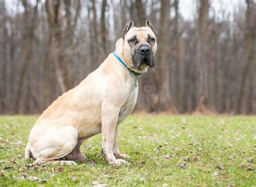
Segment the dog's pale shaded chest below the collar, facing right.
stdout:
[[129,116],[136,105],[137,97],[138,97],[138,80],[131,80],[129,81],[129,85],[126,87],[126,96],[125,96],[125,103],[123,107],[120,109],[118,115],[118,123],[121,123]]

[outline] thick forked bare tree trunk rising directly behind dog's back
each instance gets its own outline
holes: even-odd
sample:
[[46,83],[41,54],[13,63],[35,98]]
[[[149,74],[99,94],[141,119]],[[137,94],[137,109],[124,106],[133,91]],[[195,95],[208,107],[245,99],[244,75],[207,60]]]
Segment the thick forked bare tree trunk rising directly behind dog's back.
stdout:
[[[73,87],[72,74],[68,71],[69,60],[65,53],[66,50],[72,46],[73,43],[73,33],[74,27],[77,23],[78,12],[80,9],[80,2],[77,1],[77,9],[75,13],[75,18],[71,19],[71,1],[64,1],[65,8],[65,22],[66,25],[63,26],[63,17],[61,17],[61,2],[59,0],[47,0],[45,2],[46,12],[48,15],[48,26],[49,26],[49,44],[52,46],[51,50],[53,52],[53,63],[55,65],[55,70],[57,74],[57,80],[62,92],[67,91]],[[71,22],[73,21],[73,24]],[[64,31],[63,31],[64,30]],[[65,38],[63,37],[65,36]],[[49,58],[46,54],[46,60]],[[45,71],[49,71],[49,61],[46,61]],[[47,72],[46,72],[47,73]],[[46,75],[47,76],[47,75]],[[46,80],[47,81],[47,80]],[[47,92],[46,92],[47,93]]]

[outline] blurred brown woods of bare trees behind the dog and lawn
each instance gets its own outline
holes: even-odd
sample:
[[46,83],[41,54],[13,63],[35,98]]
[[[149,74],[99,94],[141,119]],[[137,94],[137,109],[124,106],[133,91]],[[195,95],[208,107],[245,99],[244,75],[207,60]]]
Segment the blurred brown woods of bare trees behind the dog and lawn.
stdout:
[[41,113],[113,52],[127,22],[146,19],[158,52],[139,92],[151,85],[149,94],[173,102],[138,102],[136,111],[256,114],[256,2],[237,0],[230,13],[225,0],[218,10],[187,1],[189,18],[179,0],[0,1],[0,114]]

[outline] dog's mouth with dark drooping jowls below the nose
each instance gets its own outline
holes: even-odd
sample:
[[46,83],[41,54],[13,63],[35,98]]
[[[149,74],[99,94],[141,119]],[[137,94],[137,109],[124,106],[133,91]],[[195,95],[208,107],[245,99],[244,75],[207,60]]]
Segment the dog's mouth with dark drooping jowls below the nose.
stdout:
[[140,53],[134,53],[134,56],[132,56],[132,63],[133,67],[137,69],[144,69],[148,66],[154,67],[154,59],[153,54],[150,52],[149,54],[140,54]]

